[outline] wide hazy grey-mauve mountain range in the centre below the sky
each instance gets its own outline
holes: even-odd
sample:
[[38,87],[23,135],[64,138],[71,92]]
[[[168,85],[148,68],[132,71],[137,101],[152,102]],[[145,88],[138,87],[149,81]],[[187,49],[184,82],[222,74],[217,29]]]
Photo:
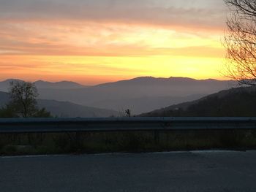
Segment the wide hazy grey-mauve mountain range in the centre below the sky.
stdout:
[[[7,91],[10,80],[0,82],[0,91]],[[133,115],[185,101],[193,101],[232,88],[234,81],[195,80],[186,77],[138,77],[132,80],[85,86],[76,82],[35,82],[39,99],[68,101],[73,104],[123,112]]]

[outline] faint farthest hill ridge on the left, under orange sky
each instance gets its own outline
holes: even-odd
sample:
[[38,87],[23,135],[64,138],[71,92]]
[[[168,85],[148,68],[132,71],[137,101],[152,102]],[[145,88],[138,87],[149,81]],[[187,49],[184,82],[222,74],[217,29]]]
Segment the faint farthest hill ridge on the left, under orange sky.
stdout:
[[[0,82],[0,91],[6,92],[10,86],[10,82],[17,79],[9,79]],[[18,80],[23,81],[23,80]],[[38,80],[34,82],[38,89],[75,89],[75,88],[87,88],[86,85],[81,85],[78,82],[72,81],[60,81],[60,82],[48,82]]]

